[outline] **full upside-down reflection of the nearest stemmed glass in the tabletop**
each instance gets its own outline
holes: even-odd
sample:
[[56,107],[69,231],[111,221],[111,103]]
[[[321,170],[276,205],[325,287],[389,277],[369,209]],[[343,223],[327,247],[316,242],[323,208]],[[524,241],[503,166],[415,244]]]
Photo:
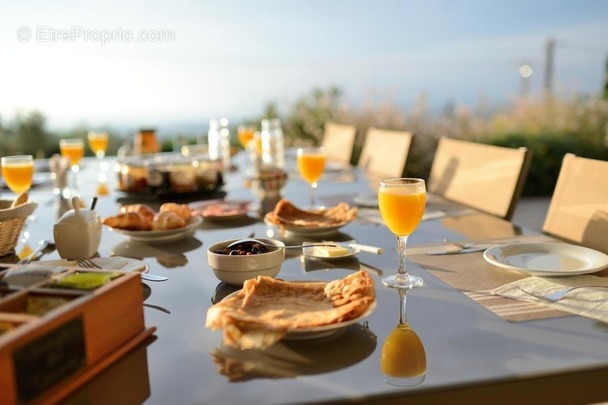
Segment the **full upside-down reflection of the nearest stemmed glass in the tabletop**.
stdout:
[[389,333],[380,354],[380,370],[385,382],[398,387],[411,387],[424,381],[426,352],[422,341],[407,322],[406,292],[399,291],[399,323]]

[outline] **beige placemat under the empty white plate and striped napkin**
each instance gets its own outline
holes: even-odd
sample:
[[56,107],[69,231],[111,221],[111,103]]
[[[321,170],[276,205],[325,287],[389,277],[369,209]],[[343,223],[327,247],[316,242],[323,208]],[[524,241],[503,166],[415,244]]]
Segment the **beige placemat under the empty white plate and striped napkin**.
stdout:
[[[530,235],[521,236],[518,241],[532,243],[555,240],[544,235]],[[490,291],[493,289],[530,276],[486,262],[483,252],[443,256],[421,253],[423,249],[436,251],[437,248],[438,245],[417,247],[414,254],[410,253],[408,258],[496,315],[513,322],[571,315],[534,302],[492,295]]]

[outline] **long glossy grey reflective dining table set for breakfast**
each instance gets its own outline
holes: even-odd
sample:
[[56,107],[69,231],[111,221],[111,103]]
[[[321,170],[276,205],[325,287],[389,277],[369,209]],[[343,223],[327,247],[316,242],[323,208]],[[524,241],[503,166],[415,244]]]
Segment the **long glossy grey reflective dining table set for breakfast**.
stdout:
[[[86,160],[79,177],[85,198],[93,195],[95,180],[96,164]],[[97,204],[102,216],[116,214],[120,202],[124,201],[125,196],[116,191],[113,180],[110,176],[111,195],[100,197]],[[256,197],[244,183],[242,171],[230,173],[224,187],[227,198],[252,199],[255,203]],[[343,176],[325,176],[319,182],[318,197],[321,201],[333,202],[369,191],[364,174],[353,168]],[[308,186],[292,176],[284,196],[296,205],[305,205]],[[49,189],[36,187],[31,198],[40,203],[37,219],[30,224],[31,240],[52,237],[58,213]],[[534,235],[502,219],[454,208],[457,215],[422,221],[409,238],[408,247],[425,249],[442,243],[444,238],[519,240]],[[222,333],[206,329],[205,317],[212,302],[236,288],[221,284],[215,278],[207,264],[206,249],[220,240],[250,233],[277,237],[276,232],[252,215],[234,222],[204,221],[191,238],[147,246],[130,242],[104,227],[101,256],[142,258],[151,273],[165,275],[169,280],[145,282],[149,288],[145,303],[150,305],[145,307],[145,322],[157,327],[154,337],[77,390],[66,402],[589,403],[608,400],[608,325],[580,316],[507,321],[471,299],[462,289],[448,284],[437,272],[414,262],[410,263],[409,271],[422,276],[425,285],[407,293],[407,318],[426,352],[427,371],[422,384],[399,388],[382,379],[379,356],[385,338],[397,324],[400,303],[397,291],[384,287],[373,272],[377,307],[364,322],[334,337],[279,342],[266,353],[251,358],[257,362],[257,370],[244,371],[242,381],[229,381],[218,372],[212,357],[221,345]],[[384,248],[382,255],[360,253],[357,257],[369,268],[384,273],[396,271],[396,241],[385,226],[356,219],[341,228],[335,237]],[[53,253],[45,259],[57,257],[57,253]],[[470,254],[469,259],[483,261],[481,253]],[[455,259],[454,269],[458,266],[462,266],[462,262]],[[352,272],[352,268],[307,269],[298,252],[290,252],[278,277],[329,281]]]

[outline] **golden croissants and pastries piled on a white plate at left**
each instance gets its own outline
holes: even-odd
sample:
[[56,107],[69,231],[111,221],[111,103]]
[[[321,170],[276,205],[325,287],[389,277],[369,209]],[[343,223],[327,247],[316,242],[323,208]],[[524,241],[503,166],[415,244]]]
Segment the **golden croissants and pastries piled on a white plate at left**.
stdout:
[[186,204],[165,203],[154,211],[146,204],[124,205],[118,215],[106,217],[103,224],[111,228],[131,231],[150,231],[183,228],[192,216]]

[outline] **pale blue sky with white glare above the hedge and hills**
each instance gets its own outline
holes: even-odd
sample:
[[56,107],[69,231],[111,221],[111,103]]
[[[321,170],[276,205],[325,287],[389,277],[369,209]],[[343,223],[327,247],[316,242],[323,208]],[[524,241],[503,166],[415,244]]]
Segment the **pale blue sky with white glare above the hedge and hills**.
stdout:
[[329,86],[353,106],[508,105],[523,63],[542,94],[550,37],[554,92],[597,94],[608,58],[605,0],[0,2],[0,119],[51,128],[239,120]]

